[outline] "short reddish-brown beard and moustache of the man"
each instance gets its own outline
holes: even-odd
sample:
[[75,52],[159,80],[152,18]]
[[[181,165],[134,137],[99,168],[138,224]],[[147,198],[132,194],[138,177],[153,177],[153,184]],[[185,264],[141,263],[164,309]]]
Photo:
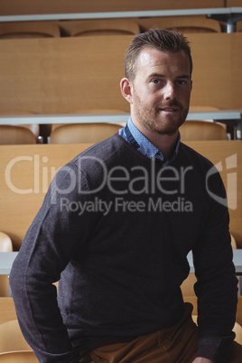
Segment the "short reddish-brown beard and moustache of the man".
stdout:
[[[189,106],[184,108],[180,102],[172,99],[163,102],[155,107],[150,107],[142,103],[141,99],[134,92],[134,115],[135,119],[147,130],[159,135],[174,135],[179,127],[184,123]],[[164,115],[163,108],[176,107],[173,115]]]

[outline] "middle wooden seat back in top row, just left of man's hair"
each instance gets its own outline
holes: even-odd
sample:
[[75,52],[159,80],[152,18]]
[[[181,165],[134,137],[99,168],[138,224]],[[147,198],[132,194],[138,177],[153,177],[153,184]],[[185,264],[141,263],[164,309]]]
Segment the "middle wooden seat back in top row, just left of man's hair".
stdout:
[[128,19],[98,19],[75,24],[70,36],[138,34],[140,27]]

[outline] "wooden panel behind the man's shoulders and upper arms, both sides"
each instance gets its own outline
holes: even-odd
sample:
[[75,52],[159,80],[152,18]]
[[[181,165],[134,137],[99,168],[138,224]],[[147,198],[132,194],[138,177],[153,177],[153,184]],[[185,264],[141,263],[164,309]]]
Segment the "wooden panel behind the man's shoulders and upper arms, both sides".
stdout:
[[[221,176],[233,208],[229,209],[230,230],[237,240],[237,247],[241,248],[242,142],[200,141],[186,144],[211,162],[221,163]],[[53,174],[87,147],[87,144],[0,146],[0,174],[5,178],[0,186],[0,230],[12,238],[15,250],[21,246],[27,228],[40,209]]]

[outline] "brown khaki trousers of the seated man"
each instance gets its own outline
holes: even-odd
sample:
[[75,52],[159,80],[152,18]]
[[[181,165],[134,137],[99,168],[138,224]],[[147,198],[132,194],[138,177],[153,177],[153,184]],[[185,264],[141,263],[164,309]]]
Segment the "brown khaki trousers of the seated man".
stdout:
[[[192,321],[191,312],[191,303],[185,302],[183,317],[174,327],[95,349],[80,359],[80,363],[191,363],[198,350],[197,325]],[[228,363],[241,363],[242,346],[234,344],[233,358]]]

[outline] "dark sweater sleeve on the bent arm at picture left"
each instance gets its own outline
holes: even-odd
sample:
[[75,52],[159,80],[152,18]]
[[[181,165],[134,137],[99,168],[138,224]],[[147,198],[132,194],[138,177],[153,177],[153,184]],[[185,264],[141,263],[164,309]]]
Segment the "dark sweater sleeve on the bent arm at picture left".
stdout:
[[79,362],[79,352],[72,348],[62,322],[53,283],[59,281],[71,256],[81,253],[92,228],[87,216],[80,218],[73,212],[75,203],[88,198],[88,193],[83,196],[78,189],[87,188],[85,175],[78,175],[74,166],[57,172],[11,270],[20,327],[40,362]]

